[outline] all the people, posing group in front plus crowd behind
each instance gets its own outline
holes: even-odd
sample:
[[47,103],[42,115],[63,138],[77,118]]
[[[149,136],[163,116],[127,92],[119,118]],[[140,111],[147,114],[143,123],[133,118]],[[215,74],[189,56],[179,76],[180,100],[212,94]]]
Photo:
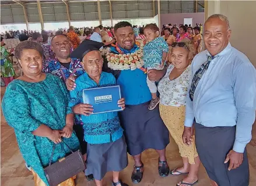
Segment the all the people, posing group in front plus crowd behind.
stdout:
[[[132,183],[143,181],[146,149],[156,150],[160,177],[185,175],[177,185],[197,184],[202,163],[213,185],[248,186],[246,145],[255,120],[256,70],[230,44],[226,16],[210,16],[204,37],[199,24],[169,24],[161,31],[156,24],[120,22],[93,33],[80,30],[83,41],[78,29],[69,27],[68,33],[58,30],[51,37],[42,31],[20,42],[15,56],[24,74],[13,81],[5,77],[14,71],[2,73],[2,58],[4,70],[12,67],[12,51],[3,48],[1,37],[1,74],[9,84],[2,111],[36,185],[49,185],[43,169],[57,144],[52,162],[80,149],[85,176],[97,186],[108,171],[114,186],[128,185],[120,179],[127,153],[134,159]],[[115,84],[122,111],[92,115],[82,90]],[[169,134],[183,159],[183,166],[172,170]],[[66,183],[75,185],[73,178]]]

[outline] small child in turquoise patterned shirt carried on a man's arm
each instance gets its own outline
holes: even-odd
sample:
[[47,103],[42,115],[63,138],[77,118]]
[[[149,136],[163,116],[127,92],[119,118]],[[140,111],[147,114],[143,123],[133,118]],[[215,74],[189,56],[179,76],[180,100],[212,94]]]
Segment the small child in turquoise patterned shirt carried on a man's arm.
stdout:
[[[144,28],[147,44],[143,48],[143,60],[145,68],[149,71],[151,69],[163,70],[164,62],[167,57],[169,47],[163,37],[159,37],[159,28],[156,24],[147,24]],[[155,81],[150,81],[147,77],[149,90],[152,94],[152,100],[149,103],[149,110],[156,108],[160,101],[157,97],[157,87]]]

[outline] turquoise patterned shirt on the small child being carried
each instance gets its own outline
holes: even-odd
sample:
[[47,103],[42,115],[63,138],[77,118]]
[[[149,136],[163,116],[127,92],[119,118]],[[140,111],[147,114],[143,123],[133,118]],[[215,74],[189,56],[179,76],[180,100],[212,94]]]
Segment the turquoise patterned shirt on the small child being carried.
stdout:
[[168,52],[169,47],[163,37],[157,37],[143,47],[143,60],[145,68],[158,67],[162,63],[163,52]]

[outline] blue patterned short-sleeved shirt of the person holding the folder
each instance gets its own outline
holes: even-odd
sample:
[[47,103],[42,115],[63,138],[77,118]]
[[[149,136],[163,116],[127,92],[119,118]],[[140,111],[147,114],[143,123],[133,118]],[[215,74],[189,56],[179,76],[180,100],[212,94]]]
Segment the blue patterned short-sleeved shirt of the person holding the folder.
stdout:
[[[76,88],[70,91],[71,101],[69,106],[73,107],[83,103],[82,90],[94,87],[115,85],[115,77],[111,73],[102,72],[100,83],[93,81],[87,73],[76,79]],[[98,113],[95,115],[81,115],[85,141],[89,144],[104,144],[116,141],[122,137],[122,128],[117,112]]]

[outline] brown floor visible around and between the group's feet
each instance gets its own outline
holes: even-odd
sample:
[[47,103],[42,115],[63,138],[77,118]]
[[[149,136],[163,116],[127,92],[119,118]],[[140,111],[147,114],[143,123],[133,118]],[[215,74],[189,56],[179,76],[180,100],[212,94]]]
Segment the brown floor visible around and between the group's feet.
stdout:
[[[1,98],[5,92],[5,88],[1,87]],[[2,101],[2,100],[1,100]],[[248,158],[250,163],[250,185],[256,185],[256,124],[253,128],[253,140],[247,145]],[[167,159],[169,160],[169,166],[174,169],[182,165],[180,154],[178,153],[178,147],[170,139],[170,144],[167,146]],[[157,153],[151,149],[143,152],[143,163],[145,164],[145,172],[143,180],[138,186],[166,186],[176,185],[178,181],[183,179],[183,176],[169,176],[161,178],[158,174]],[[122,171],[121,179],[125,183],[131,185],[131,172],[133,169],[133,161],[129,156],[129,165]],[[111,174],[108,173],[104,178],[106,185],[111,185]],[[204,167],[201,165],[199,169],[199,182],[197,186],[211,185],[210,180],[206,174]],[[34,185],[33,176],[30,171],[26,169],[22,155],[19,152],[17,146],[15,133],[12,128],[6,123],[1,112],[1,185],[2,186],[24,186]],[[94,182],[86,181],[85,176],[82,173],[78,174],[76,178],[77,186],[95,185]],[[236,185],[232,185],[236,186]]]

